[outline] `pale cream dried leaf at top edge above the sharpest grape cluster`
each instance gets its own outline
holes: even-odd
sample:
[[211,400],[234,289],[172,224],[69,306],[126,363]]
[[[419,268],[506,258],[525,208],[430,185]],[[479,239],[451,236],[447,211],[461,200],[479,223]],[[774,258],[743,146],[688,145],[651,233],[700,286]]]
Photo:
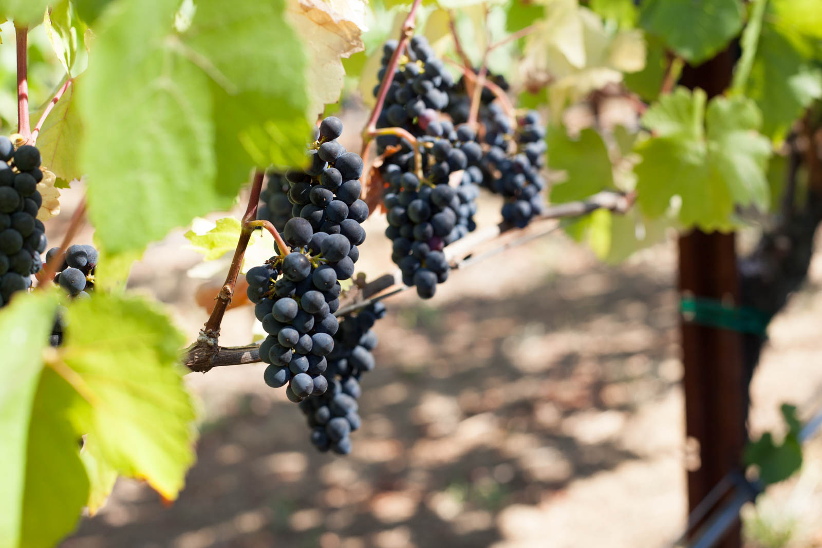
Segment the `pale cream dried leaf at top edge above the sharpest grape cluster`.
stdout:
[[366,5],[362,0],[289,0],[286,21],[302,39],[307,53],[309,113],[339,101],[345,69],[341,58],[365,49]]

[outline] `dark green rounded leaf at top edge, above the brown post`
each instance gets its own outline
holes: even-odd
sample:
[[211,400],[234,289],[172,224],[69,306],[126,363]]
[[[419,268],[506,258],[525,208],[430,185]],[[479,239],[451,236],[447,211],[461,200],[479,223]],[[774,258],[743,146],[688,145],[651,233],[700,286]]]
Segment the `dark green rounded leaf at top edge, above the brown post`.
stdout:
[[640,24],[687,62],[698,65],[739,34],[744,15],[740,0],[649,0],[644,2]]

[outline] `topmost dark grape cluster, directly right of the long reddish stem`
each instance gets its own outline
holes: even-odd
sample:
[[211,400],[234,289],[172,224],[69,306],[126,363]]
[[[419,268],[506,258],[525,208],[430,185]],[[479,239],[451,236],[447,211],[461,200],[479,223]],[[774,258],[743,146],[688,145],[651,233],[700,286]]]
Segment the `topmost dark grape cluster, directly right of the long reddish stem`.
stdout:
[[[395,40],[383,46],[380,81],[388,70],[391,55],[397,48]],[[403,127],[413,136],[424,135],[428,123],[436,120],[436,111],[448,106],[448,90],[454,85],[454,78],[446,70],[441,59],[424,36],[414,36],[409,42],[407,56],[400,58],[395,69],[394,80],[388,88],[376,127]],[[374,96],[380,86],[374,88]],[[441,134],[440,134],[441,135]],[[382,152],[387,145],[395,145],[395,136],[380,136],[376,139],[377,149]],[[405,143],[406,147],[408,143]]]

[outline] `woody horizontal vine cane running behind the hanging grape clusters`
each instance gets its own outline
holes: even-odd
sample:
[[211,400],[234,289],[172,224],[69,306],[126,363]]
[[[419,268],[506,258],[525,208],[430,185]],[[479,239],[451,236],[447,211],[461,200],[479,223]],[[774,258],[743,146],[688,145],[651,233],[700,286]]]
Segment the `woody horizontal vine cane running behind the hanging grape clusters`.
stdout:
[[[520,246],[538,237],[554,232],[561,227],[558,219],[580,217],[594,210],[610,210],[624,214],[634,204],[635,195],[622,195],[615,192],[600,192],[587,200],[568,202],[566,204],[548,207],[538,219],[535,219],[526,228],[514,228],[506,223],[500,223],[483,228],[462,240],[446,246],[445,252],[450,266],[453,269],[463,269],[480,260]],[[480,247],[487,246],[486,251],[477,255]],[[383,274],[370,283],[366,283],[358,292],[353,292],[351,300],[341,306],[335,315],[346,315],[372,302],[381,301],[400,292],[410,289],[404,286],[399,271]],[[196,347],[195,347],[196,348]],[[191,371],[205,373],[218,366],[238,366],[260,361],[259,344],[249,344],[242,347],[216,347],[210,355],[192,351],[188,353],[185,364]]]

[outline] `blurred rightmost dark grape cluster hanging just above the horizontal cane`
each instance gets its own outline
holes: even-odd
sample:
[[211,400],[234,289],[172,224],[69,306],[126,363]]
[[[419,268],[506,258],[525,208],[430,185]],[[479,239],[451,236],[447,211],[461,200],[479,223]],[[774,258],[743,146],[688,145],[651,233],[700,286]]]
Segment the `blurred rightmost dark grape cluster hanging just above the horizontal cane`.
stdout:
[[[483,156],[485,187],[505,198],[502,219],[523,228],[543,211],[545,179],[540,174],[545,156],[545,128],[539,113],[530,111],[515,128],[497,104],[488,105],[488,145]],[[512,150],[513,149],[513,150]]]

